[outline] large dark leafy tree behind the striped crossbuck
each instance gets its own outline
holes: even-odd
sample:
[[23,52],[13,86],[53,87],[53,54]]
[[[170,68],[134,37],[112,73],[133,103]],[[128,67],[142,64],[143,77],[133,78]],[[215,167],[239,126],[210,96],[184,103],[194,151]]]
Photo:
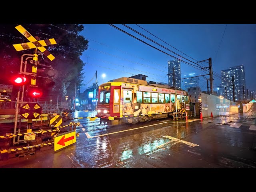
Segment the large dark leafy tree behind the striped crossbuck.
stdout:
[[[18,30],[19,24],[1,24],[0,32],[0,77],[1,84],[10,84],[9,77],[20,71],[20,58],[22,54],[33,54],[33,49],[16,51],[13,44],[29,42]],[[21,24],[32,36],[40,37],[40,40],[54,38],[55,45],[45,48],[55,57],[50,61],[44,54],[38,56],[40,64],[50,65],[58,71],[54,78],[54,88],[44,90],[44,96],[59,95],[73,96],[74,84],[83,80],[83,67],[85,63],[80,59],[82,52],[88,49],[88,40],[79,33],[84,30],[80,24]],[[40,66],[38,66],[40,68]],[[31,67],[27,66],[27,72]],[[43,78],[36,78],[36,85],[42,86]]]

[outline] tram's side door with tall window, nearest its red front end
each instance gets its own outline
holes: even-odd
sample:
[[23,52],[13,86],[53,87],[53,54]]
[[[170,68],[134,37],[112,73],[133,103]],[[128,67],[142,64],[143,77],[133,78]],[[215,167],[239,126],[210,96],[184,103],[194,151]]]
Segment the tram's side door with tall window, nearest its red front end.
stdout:
[[123,115],[134,114],[134,110],[132,108],[132,101],[133,101],[132,90],[123,89],[123,103],[122,103],[122,106],[123,106],[122,114]]

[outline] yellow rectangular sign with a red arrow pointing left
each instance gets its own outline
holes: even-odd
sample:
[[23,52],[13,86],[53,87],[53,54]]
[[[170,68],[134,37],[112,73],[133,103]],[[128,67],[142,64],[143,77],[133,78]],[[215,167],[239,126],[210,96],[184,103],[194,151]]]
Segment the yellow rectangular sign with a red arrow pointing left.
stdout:
[[76,131],[69,131],[58,134],[54,138],[54,151],[60,150],[76,142]]

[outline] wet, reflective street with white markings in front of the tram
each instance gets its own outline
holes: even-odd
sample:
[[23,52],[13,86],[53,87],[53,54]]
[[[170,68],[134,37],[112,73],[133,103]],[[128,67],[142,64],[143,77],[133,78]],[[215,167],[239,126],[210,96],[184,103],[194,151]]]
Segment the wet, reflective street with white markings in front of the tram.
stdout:
[[[76,111],[74,117],[96,112]],[[109,126],[76,119],[74,145],[0,161],[0,168],[255,168],[256,119],[228,115]]]

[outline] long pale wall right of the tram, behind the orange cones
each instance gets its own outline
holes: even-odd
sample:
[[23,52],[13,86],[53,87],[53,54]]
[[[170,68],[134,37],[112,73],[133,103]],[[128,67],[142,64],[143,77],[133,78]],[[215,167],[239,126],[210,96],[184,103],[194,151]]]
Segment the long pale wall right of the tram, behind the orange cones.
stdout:
[[202,116],[238,114],[239,103],[215,95],[201,93]]

